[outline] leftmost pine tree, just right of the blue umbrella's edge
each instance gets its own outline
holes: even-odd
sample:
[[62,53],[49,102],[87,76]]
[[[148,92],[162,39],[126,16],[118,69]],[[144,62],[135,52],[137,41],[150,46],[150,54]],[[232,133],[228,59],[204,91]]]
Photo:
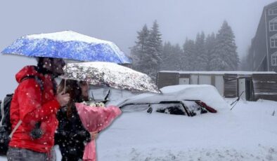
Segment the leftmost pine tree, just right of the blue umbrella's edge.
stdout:
[[143,57],[146,55],[146,40],[149,36],[147,25],[144,25],[141,31],[138,31],[136,45],[131,48],[131,58],[133,59],[132,66],[138,71],[143,70]]

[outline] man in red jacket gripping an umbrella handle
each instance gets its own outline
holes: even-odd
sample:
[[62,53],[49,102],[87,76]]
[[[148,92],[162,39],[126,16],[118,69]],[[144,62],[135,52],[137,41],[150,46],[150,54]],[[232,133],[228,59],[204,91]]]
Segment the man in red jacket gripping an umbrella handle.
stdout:
[[[69,94],[56,93],[54,78],[63,74],[63,66],[63,59],[39,57],[37,66],[25,66],[16,74],[19,85],[11,102],[12,129],[20,120],[22,123],[9,143],[8,160],[56,160],[56,113],[70,100]],[[34,136],[34,130],[40,134]]]

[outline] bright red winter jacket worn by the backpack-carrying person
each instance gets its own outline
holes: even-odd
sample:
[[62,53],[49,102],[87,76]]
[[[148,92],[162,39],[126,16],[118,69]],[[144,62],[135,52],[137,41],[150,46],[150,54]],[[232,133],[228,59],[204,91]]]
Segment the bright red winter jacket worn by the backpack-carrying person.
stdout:
[[[22,80],[26,76],[38,76],[44,89],[41,91],[40,84],[34,78]],[[54,132],[58,127],[56,112],[60,108],[53,92],[52,78],[38,73],[34,66],[25,66],[15,78],[19,85],[11,102],[12,129],[19,120],[22,124],[13,134],[9,146],[48,153],[54,145]],[[39,139],[32,139],[30,132],[37,122],[41,122],[44,134]]]

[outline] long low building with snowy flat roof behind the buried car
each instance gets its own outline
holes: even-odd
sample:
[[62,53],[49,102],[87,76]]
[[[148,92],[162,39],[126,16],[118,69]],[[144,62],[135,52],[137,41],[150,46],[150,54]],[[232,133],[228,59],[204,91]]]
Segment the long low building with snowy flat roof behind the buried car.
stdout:
[[277,101],[277,73],[274,71],[159,71],[157,86],[214,85],[222,97],[247,101]]

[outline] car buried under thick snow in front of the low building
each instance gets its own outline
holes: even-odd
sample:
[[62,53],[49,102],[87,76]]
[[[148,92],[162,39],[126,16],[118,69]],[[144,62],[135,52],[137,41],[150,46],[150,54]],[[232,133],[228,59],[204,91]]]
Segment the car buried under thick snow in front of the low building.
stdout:
[[212,85],[172,85],[162,87],[160,94],[144,93],[117,104],[123,112],[152,111],[195,116],[216,113],[228,106]]

